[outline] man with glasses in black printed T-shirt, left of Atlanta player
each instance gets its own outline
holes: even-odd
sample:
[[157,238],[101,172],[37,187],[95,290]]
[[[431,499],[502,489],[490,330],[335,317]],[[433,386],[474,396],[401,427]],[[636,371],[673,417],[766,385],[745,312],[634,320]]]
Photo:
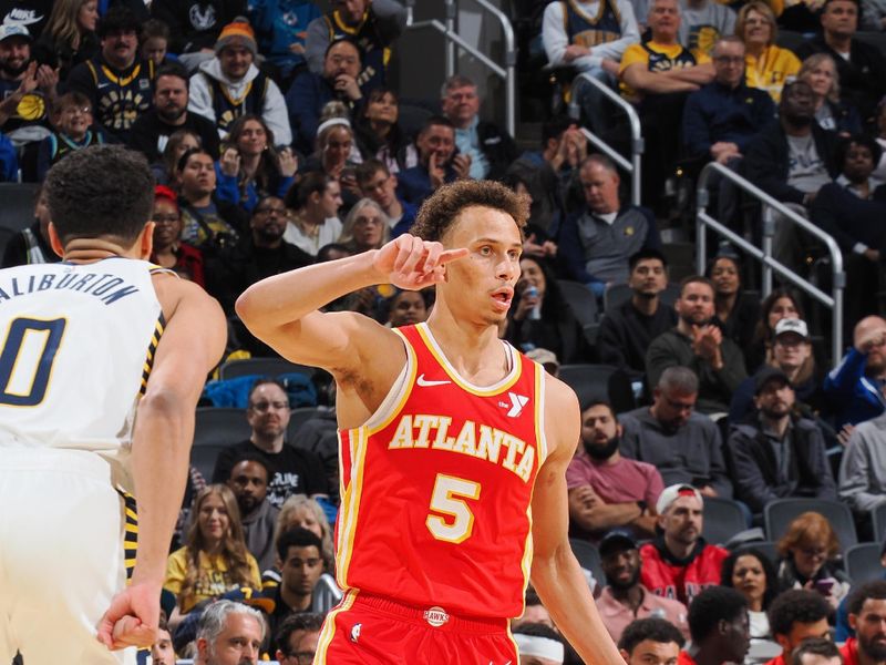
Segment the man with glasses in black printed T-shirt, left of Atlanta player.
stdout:
[[213,482],[230,478],[234,460],[245,452],[259,453],[270,471],[268,501],[279,508],[287,497],[327,495],[323,464],[315,453],[285,446],[289,424],[289,397],[275,379],[259,379],[249,393],[246,419],[253,428],[248,440],[223,450],[215,463]]

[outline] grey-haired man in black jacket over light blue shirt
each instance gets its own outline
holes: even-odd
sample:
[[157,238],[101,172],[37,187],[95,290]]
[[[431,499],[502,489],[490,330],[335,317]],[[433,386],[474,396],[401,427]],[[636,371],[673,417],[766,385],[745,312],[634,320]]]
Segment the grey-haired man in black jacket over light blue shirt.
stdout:
[[519,156],[514,139],[485,120],[480,120],[477,86],[467,76],[450,76],[441,92],[443,115],[455,127],[455,145],[471,156],[471,177],[498,180]]

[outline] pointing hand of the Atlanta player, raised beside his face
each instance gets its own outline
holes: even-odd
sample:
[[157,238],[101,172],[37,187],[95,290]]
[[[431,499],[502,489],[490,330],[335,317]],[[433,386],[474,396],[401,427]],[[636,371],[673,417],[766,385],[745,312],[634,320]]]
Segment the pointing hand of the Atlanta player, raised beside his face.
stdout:
[[373,266],[383,280],[409,290],[444,282],[446,264],[467,256],[466,248],[444,249],[436,242],[403,234],[379,249]]

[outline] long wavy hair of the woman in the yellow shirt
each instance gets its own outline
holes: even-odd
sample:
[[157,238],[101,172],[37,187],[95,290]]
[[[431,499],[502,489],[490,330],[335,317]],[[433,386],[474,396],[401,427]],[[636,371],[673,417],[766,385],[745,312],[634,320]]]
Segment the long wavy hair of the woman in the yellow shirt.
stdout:
[[[231,586],[254,586],[249,571],[249,552],[246,549],[246,541],[243,533],[243,522],[240,521],[240,510],[237,508],[237,499],[234,492],[225,484],[210,484],[200,490],[194,497],[190,509],[190,525],[187,530],[185,548],[187,549],[187,572],[178,592],[178,607],[184,612],[185,607],[193,606],[194,591],[197,585],[197,576],[200,571],[199,554],[206,549],[206,542],[199,526],[199,514],[203,502],[213,494],[222,499],[228,514],[228,532],[222,545],[220,555],[227,565],[228,582]],[[259,590],[256,590],[259,591]],[[187,602],[192,601],[192,602]]]

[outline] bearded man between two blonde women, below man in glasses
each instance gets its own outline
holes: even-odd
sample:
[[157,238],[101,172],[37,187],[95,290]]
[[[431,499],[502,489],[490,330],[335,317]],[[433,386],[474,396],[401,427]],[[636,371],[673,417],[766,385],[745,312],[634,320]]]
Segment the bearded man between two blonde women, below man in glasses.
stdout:
[[269,477],[268,464],[260,456],[244,452],[234,462],[227,481],[240,509],[246,548],[262,571],[274,565],[274,531],[280,514],[280,510],[268,501]]

